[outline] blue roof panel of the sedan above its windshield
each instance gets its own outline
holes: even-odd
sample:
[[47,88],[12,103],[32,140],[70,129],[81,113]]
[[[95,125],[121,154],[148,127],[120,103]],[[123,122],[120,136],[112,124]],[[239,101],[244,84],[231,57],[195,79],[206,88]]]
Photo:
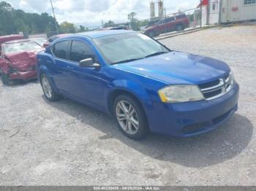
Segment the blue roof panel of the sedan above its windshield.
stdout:
[[115,34],[128,34],[133,33],[135,31],[127,31],[127,30],[105,30],[105,31],[90,31],[90,32],[83,32],[74,34],[72,36],[87,36],[91,39],[97,39],[103,36],[110,36]]

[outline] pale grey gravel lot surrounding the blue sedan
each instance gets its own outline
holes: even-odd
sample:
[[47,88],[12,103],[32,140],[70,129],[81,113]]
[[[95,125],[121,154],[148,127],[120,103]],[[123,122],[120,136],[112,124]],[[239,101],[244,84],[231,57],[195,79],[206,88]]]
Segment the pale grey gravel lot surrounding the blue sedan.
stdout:
[[106,114],[68,99],[49,103],[38,82],[0,84],[0,184],[256,185],[256,26],[162,43],[230,64],[241,96],[229,121],[189,139],[132,141]]

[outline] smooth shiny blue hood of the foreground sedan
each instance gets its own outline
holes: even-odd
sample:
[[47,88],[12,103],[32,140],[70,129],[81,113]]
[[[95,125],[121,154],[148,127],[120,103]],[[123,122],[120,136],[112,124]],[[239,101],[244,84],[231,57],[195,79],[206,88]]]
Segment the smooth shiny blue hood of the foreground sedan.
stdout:
[[197,85],[230,72],[229,66],[222,61],[176,51],[113,66],[168,84]]

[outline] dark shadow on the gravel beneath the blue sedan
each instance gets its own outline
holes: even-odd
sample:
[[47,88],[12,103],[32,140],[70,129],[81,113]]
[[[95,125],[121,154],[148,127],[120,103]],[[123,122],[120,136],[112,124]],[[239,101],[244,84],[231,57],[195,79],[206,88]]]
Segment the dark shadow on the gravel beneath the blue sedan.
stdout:
[[236,157],[252,139],[252,122],[241,114],[234,114],[216,130],[200,136],[176,138],[151,134],[141,141],[133,141],[118,130],[113,118],[108,114],[67,98],[57,102],[46,102],[61,112],[76,117],[85,124],[84,128],[89,126],[105,133],[99,137],[99,141],[118,139],[148,157],[191,168],[215,165]]

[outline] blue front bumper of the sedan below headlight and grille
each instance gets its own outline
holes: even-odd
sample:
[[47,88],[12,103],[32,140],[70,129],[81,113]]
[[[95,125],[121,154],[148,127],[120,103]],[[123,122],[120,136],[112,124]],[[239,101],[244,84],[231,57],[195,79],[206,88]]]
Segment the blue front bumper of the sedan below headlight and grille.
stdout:
[[217,128],[238,109],[239,86],[211,101],[164,104],[146,109],[151,132],[187,137]]

